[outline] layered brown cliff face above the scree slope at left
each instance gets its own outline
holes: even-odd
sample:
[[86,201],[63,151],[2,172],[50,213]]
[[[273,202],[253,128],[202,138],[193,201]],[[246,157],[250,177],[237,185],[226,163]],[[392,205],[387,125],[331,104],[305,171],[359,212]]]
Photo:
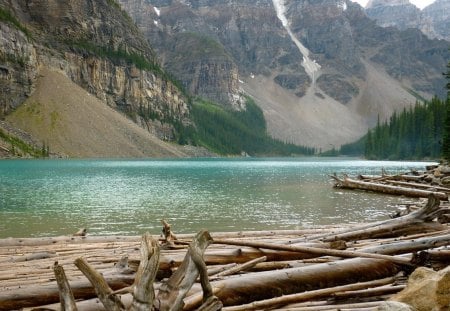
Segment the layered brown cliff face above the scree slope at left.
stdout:
[[2,69],[3,76],[7,71],[4,79],[23,90],[17,95],[13,87],[6,90],[4,113],[29,95],[39,67],[44,66],[63,71],[165,139],[171,138],[167,133],[171,125],[153,120],[187,120],[185,96],[161,70],[148,42],[115,1],[1,0],[0,6],[30,33],[27,37],[20,30],[11,32],[8,23],[0,24],[6,29],[0,34],[0,48],[9,55],[4,66],[8,68]]

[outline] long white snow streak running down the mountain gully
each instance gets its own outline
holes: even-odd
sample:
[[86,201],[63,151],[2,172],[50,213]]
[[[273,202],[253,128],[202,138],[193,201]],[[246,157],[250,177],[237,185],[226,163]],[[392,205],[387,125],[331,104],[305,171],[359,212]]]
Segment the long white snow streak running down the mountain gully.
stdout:
[[[313,82],[313,86],[316,84],[317,74],[320,71],[321,66],[315,61],[309,58],[310,51],[297,39],[295,34],[289,27],[289,21],[286,17],[286,6],[284,0],[272,0],[277,17],[281,21],[281,24],[286,29],[287,33],[291,37],[291,40],[295,43],[300,53],[303,55],[302,66],[305,68],[306,73],[309,75]],[[344,2],[345,3],[345,2]]]

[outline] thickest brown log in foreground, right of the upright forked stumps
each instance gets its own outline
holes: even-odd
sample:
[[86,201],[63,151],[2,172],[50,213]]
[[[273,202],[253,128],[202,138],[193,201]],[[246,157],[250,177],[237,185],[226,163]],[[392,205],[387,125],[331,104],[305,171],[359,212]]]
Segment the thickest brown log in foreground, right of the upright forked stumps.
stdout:
[[[301,268],[231,276],[213,281],[211,285],[224,306],[232,306],[307,290],[391,277],[399,271],[400,267],[390,261],[353,258]],[[190,302],[196,301],[199,294],[186,299],[185,310],[195,308]]]

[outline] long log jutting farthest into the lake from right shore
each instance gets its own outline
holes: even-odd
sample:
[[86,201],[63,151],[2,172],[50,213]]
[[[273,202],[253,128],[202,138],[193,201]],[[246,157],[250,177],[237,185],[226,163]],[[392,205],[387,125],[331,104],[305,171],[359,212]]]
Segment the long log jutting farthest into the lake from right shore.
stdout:
[[337,176],[333,176],[333,175],[331,177],[336,181],[335,187],[337,187],[337,188],[351,189],[351,190],[354,190],[354,189],[366,190],[366,191],[380,192],[380,193],[392,194],[392,195],[404,195],[404,196],[412,197],[412,198],[427,198],[430,194],[433,194],[435,197],[437,197],[440,200],[448,201],[448,195],[444,192],[427,191],[427,190],[421,190],[421,189],[411,189],[411,188],[407,188],[407,187],[385,185],[385,184],[379,184],[379,183],[374,183],[374,182],[367,182],[367,181],[351,179],[348,177],[344,177],[343,179],[340,179]]

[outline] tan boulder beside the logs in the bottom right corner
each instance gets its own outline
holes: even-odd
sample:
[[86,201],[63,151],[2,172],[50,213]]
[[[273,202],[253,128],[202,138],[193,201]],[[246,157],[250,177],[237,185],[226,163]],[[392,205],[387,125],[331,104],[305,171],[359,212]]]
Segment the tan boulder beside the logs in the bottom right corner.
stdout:
[[438,272],[417,268],[409,277],[407,287],[390,300],[420,311],[449,310],[450,266]]

